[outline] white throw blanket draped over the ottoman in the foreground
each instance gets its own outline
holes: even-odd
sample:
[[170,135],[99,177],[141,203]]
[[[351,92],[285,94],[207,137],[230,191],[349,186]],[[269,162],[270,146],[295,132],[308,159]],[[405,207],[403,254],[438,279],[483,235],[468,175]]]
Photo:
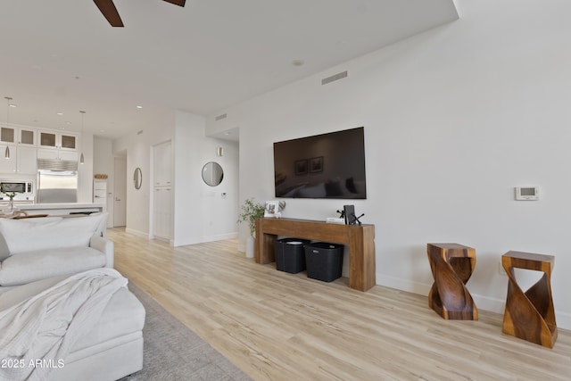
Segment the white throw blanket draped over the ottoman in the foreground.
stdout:
[[92,269],[0,311],[0,380],[48,379],[127,283],[114,269]]

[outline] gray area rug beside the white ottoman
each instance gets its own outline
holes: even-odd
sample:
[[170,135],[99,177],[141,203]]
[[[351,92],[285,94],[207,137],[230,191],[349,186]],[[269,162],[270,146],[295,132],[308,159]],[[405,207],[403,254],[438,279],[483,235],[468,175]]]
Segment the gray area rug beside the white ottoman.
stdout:
[[145,306],[145,352],[143,369],[120,381],[251,380],[139,287],[128,289]]

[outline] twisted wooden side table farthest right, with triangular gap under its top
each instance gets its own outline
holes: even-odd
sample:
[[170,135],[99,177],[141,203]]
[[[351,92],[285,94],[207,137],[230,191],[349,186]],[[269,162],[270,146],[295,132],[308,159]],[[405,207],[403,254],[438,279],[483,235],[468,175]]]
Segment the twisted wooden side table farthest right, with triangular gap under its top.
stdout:
[[[553,347],[557,340],[550,282],[554,263],[555,257],[552,255],[508,252],[501,256],[501,265],[509,277],[502,325],[504,334]],[[517,285],[514,269],[542,271],[543,276],[524,292]]]

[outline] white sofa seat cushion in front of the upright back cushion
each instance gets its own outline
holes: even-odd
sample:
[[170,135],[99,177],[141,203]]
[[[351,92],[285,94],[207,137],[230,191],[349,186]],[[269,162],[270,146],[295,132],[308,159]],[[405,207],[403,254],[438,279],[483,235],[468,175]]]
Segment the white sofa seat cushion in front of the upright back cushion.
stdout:
[[105,266],[105,254],[91,247],[62,247],[11,255],[2,261],[0,286],[17,286],[46,277]]

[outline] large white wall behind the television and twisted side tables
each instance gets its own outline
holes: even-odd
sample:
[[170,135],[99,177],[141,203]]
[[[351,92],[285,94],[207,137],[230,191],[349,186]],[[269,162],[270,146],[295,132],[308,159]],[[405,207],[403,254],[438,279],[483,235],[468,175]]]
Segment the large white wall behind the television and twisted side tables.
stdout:
[[[553,254],[557,319],[571,328],[571,3],[456,4],[459,21],[221,111],[240,128],[240,203],[274,198],[273,142],[364,126],[368,199],[354,204],[376,225],[379,285],[427,294],[426,243],[458,242],[476,248],[476,303],[503,312],[501,254]],[[541,200],[514,201],[514,186],[540,186]],[[285,217],[305,219],[346,203],[286,202]]]

